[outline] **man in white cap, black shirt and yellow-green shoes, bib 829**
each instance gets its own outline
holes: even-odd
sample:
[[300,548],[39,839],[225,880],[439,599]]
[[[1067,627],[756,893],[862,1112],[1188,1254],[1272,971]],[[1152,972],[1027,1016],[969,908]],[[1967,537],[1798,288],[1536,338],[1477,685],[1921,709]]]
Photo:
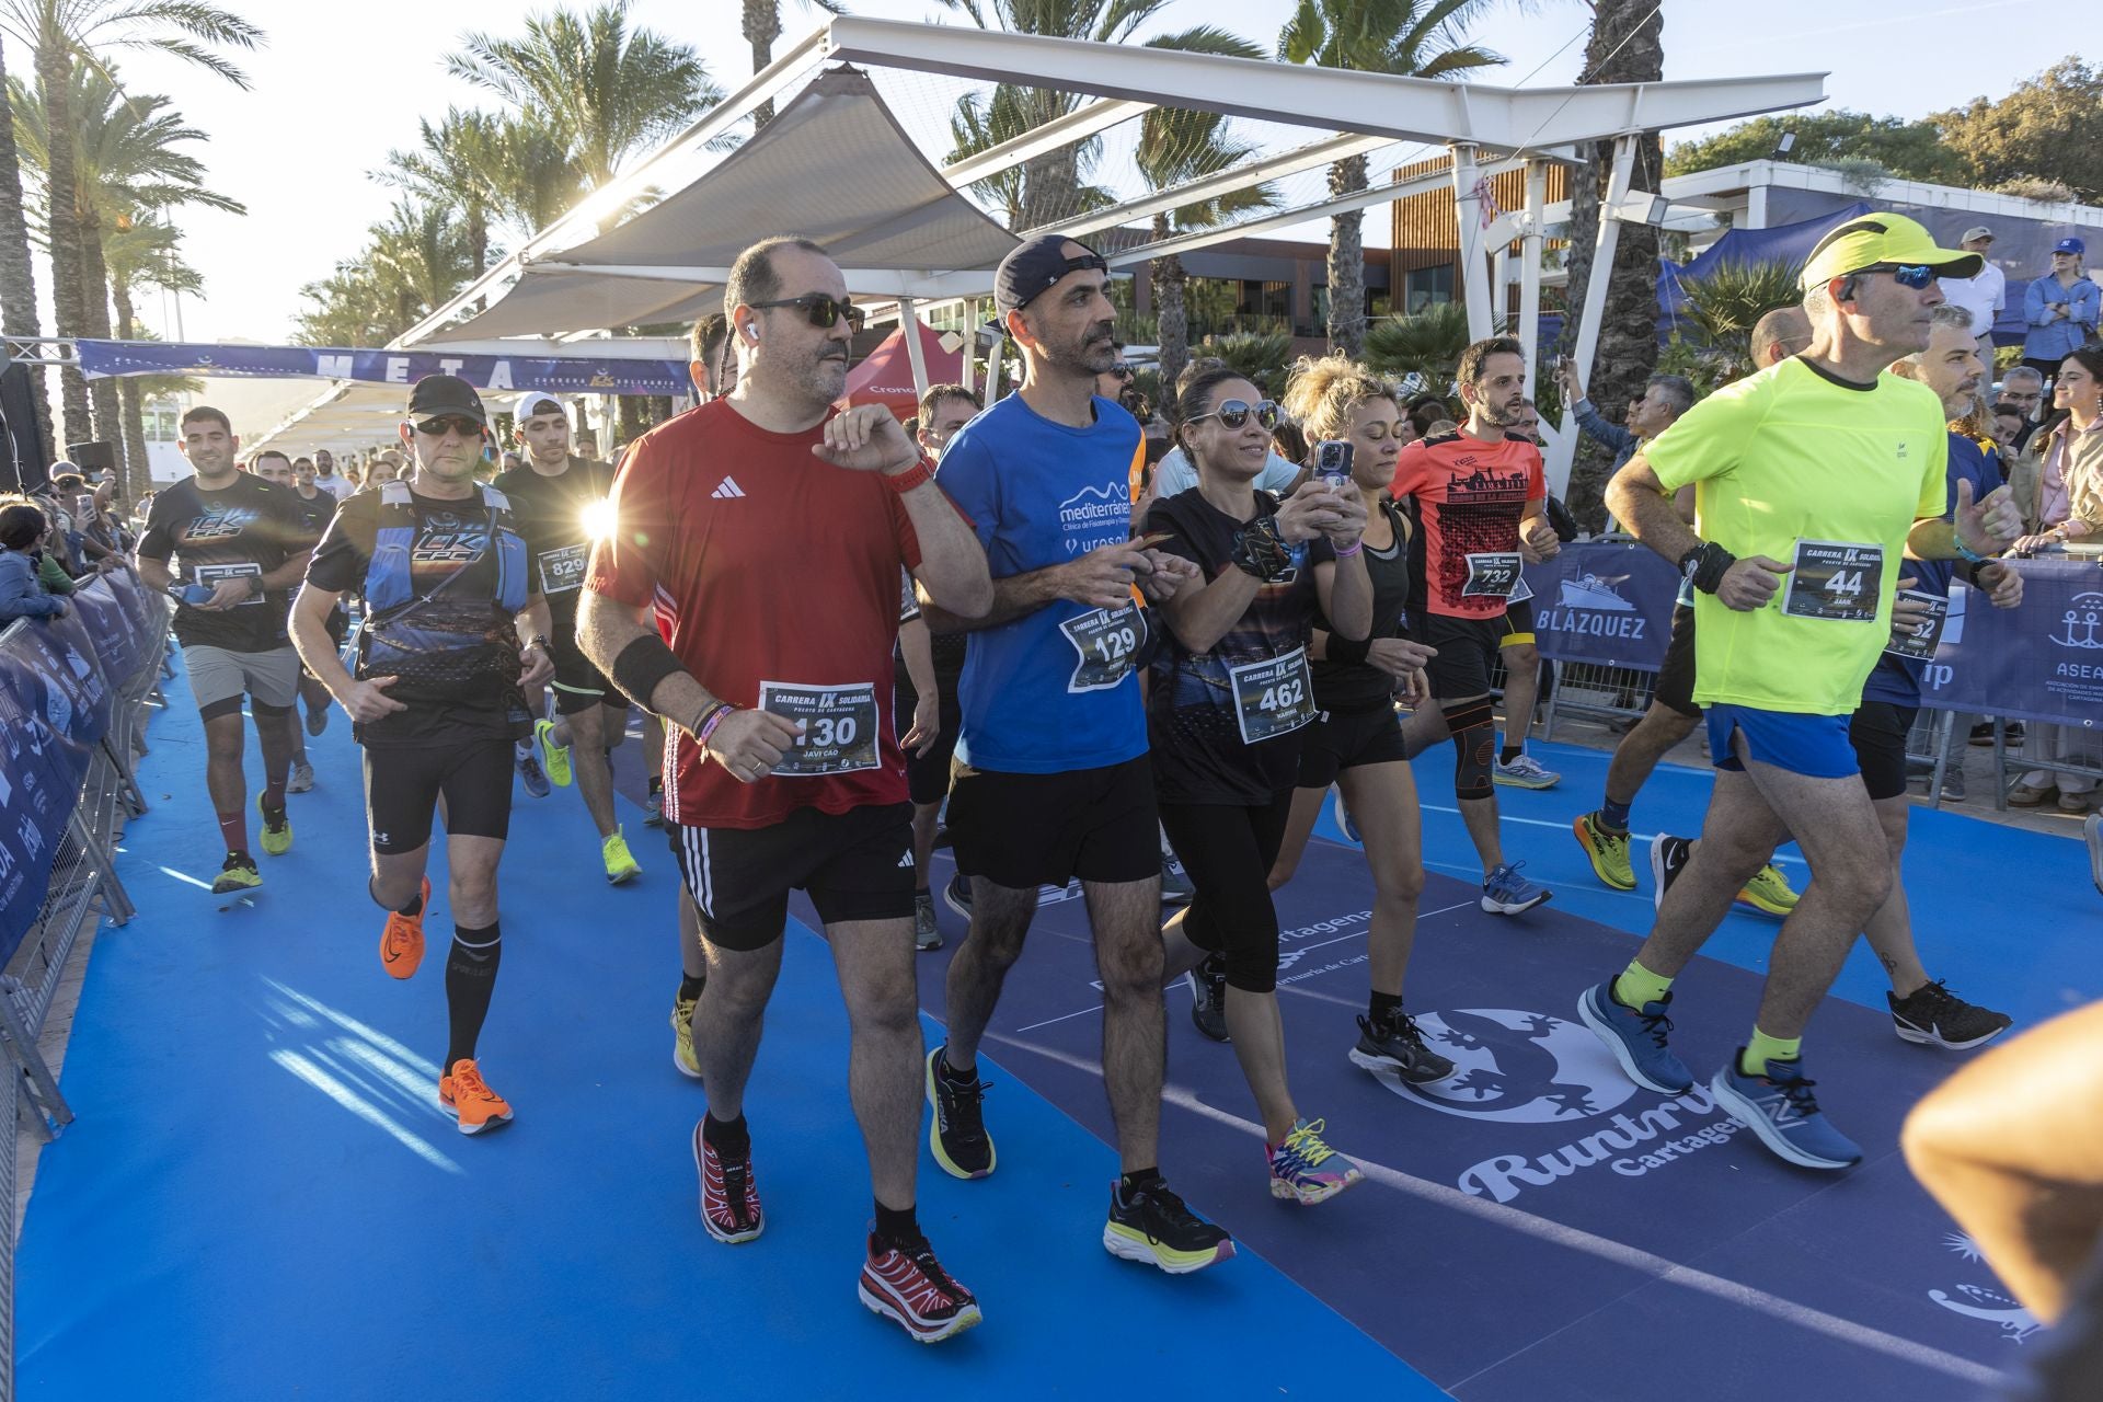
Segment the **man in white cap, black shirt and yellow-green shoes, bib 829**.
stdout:
[[522,393],[511,425],[526,467],[503,473],[496,490],[534,544],[534,582],[547,599],[549,639],[555,643],[555,719],[543,719],[538,692],[526,694],[540,771],[562,788],[576,780],[585,811],[599,830],[606,881],[620,885],[641,874],[614,822],[612,752],[629,731],[629,698],[576,650],[576,597],[591,544],[608,525],[614,469],[570,452],[570,414],[555,395]]

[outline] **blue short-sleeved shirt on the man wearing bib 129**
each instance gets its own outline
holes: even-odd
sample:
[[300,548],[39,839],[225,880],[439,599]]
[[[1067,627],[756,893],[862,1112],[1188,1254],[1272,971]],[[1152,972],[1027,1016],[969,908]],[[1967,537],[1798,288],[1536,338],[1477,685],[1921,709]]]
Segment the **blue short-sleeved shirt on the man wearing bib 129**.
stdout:
[[[1096,422],[1068,429],[1007,395],[974,418],[942,452],[942,490],[978,528],[993,578],[1064,565],[1131,536],[1131,462],[1140,422],[1096,397]],[[1100,769],[1146,752],[1140,681],[1091,673],[1083,603],[1060,599],[1035,614],[969,635],[957,696],[957,757],[1001,774]],[[1110,635],[1138,631],[1138,607],[1098,620]],[[1079,639],[1077,641],[1077,635]],[[1119,643],[1117,637],[1110,639]],[[1119,643],[1121,645],[1121,643]]]

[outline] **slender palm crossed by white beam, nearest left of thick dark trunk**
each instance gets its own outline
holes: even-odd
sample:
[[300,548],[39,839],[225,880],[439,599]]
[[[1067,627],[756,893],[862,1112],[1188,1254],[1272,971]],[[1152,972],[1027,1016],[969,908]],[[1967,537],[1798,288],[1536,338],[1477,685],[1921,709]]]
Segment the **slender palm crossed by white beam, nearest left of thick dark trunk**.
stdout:
[[[1445,78],[1504,63],[1466,44],[1466,25],[1497,0],[1300,0],[1279,34],[1287,63],[1350,67],[1363,74]],[[1365,156],[1329,166],[1329,195],[1342,200],[1367,187]],[[1346,355],[1365,349],[1365,238],[1361,212],[1329,219],[1329,347]]]

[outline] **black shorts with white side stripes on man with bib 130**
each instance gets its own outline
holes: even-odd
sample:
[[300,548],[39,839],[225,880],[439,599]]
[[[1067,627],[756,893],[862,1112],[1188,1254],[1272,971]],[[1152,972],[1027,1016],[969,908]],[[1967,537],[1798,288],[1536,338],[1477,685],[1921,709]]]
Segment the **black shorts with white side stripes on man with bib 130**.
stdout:
[[726,950],[763,950],[789,927],[789,891],[818,919],[913,919],[913,809],[904,803],[826,813],[799,807],[772,828],[665,824],[700,933]]

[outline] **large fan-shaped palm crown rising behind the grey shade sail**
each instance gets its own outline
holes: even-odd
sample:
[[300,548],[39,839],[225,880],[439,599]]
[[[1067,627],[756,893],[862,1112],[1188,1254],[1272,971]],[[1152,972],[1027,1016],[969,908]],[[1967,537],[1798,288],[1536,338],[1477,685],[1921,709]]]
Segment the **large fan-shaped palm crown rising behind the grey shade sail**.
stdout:
[[446,59],[446,71],[488,88],[517,114],[532,114],[564,141],[585,189],[599,189],[631,153],[658,145],[723,101],[692,46],[629,29],[629,4],[604,0],[583,17],[538,15],[515,40],[469,34],[465,50]]

